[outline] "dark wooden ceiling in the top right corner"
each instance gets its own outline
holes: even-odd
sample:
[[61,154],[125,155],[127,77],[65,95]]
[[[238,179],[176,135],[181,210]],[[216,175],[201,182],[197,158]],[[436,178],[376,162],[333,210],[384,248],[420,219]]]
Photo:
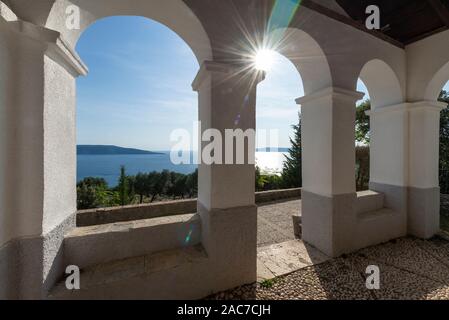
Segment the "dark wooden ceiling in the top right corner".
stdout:
[[384,36],[407,45],[449,29],[449,0],[336,0],[359,24],[365,24],[369,5],[380,8]]

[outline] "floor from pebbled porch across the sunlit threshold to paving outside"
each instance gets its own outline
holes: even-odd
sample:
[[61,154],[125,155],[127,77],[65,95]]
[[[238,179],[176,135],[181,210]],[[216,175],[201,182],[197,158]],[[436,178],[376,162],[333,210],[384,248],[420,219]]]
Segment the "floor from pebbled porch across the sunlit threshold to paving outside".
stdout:
[[[449,299],[447,238],[402,238],[330,259],[295,239],[291,215],[298,210],[300,200],[259,207],[258,283],[209,299]],[[366,288],[370,265],[380,269],[380,290]]]

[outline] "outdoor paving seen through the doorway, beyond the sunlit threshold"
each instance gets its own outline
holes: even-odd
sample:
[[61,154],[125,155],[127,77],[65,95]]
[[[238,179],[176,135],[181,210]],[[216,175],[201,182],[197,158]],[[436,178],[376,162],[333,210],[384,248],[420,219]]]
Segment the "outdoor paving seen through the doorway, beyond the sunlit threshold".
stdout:
[[301,210],[301,200],[269,203],[257,210],[259,247],[295,239],[292,215]]

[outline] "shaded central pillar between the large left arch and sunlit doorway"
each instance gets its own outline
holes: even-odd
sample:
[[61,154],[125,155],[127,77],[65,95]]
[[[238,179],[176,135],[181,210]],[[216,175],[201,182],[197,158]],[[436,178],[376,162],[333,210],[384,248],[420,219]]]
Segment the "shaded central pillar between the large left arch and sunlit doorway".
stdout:
[[[211,292],[251,283],[257,277],[255,167],[247,156],[248,152],[253,155],[255,150],[249,149],[247,140],[243,150],[238,150],[245,153],[244,162],[224,163],[233,158],[225,152],[225,130],[255,129],[256,86],[261,76],[256,71],[206,61],[193,83],[199,94],[201,135],[213,129],[222,137],[222,147],[214,150],[222,164],[201,161],[198,179],[202,244],[213,266],[208,278]],[[209,144],[200,144],[203,151]],[[237,143],[234,153],[236,146]],[[207,150],[206,153],[210,154]]]

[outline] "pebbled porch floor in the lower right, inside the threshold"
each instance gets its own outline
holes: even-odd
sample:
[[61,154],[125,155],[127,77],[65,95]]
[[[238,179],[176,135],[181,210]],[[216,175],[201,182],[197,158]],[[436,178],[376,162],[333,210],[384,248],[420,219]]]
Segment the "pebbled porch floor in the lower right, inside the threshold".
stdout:
[[[369,265],[380,268],[380,290],[366,289]],[[449,241],[403,238],[209,299],[449,299]]]

